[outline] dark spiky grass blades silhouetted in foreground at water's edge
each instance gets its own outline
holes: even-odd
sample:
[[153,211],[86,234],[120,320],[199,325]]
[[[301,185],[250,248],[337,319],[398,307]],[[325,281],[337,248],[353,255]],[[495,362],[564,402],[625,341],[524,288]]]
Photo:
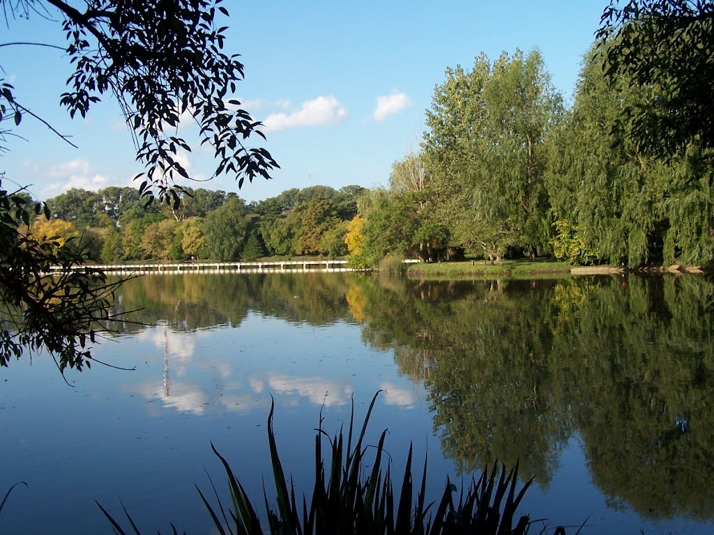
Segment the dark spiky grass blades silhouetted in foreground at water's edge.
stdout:
[[[393,485],[391,463],[386,456],[384,441],[387,431],[382,432],[376,447],[364,442],[367,424],[379,392],[375,394],[368,408],[359,435],[353,434],[354,405],[347,431],[343,429],[330,437],[322,429],[322,414],[315,437],[315,485],[308,501],[306,496],[296,499],[292,479],[288,481],[281,464],[273,432],[273,411],[268,415],[268,446],[273,465],[273,483],[276,491],[276,506],[268,503],[263,490],[259,499],[266,511],[268,525],[261,525],[256,513],[256,503],[251,501],[241,482],[236,477],[226,459],[218,453],[213,444],[213,452],[223,465],[228,480],[230,501],[224,501],[211,480],[211,494],[201,489],[198,494],[208,514],[213,519],[219,535],[263,535],[263,534],[385,534],[385,535],[523,535],[531,526],[527,515],[517,516],[516,509],[531,481],[516,489],[518,484],[518,464],[510,471],[506,467],[498,469],[494,464],[491,471],[484,469],[481,477],[471,479],[466,491],[462,489],[456,499],[456,485],[447,478],[438,501],[426,501],[426,468],[424,459],[421,483],[415,486],[412,479],[412,450],[401,477],[401,486]],[[353,443],[353,439],[356,442]],[[327,455],[323,455],[323,447]],[[367,452],[370,454],[367,456]],[[210,477],[209,477],[210,480]],[[416,491],[416,499],[414,496]],[[130,529],[124,531],[119,521],[99,504],[101,511],[119,535],[141,535],[138,526],[131,519],[129,511],[124,515]],[[547,526],[546,526],[547,527]],[[540,531],[545,533],[546,527]],[[178,534],[171,524],[172,533]],[[565,534],[562,527],[555,534]],[[160,535],[160,534],[159,534]]]

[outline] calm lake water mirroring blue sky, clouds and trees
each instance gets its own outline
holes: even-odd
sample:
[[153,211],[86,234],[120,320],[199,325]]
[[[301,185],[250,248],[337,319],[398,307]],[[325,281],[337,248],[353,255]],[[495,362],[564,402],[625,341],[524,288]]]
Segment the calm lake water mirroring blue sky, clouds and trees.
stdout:
[[[521,512],[583,533],[714,531],[714,322],[701,277],[409,282],[376,276],[153,275],[68,387],[43,356],[0,370],[0,532],[210,534],[194,484],[225,490],[211,442],[256,504],[283,466],[311,487],[313,428],[336,432],[378,389],[396,472],[409,442],[446,475],[495,459],[534,477]],[[421,467],[421,462],[415,463]],[[416,477],[421,477],[418,469]],[[534,529],[532,532],[540,531]],[[575,533],[577,528],[569,529]],[[552,529],[550,530],[552,533]]]

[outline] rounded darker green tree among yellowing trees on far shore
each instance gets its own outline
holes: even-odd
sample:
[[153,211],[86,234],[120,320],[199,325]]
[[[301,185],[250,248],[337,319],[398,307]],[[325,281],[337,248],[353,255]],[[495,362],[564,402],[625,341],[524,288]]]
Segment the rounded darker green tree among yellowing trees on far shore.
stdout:
[[203,220],[206,252],[211,260],[236,260],[240,258],[246,242],[248,222],[246,204],[242,199],[230,198],[221,208],[216,208]]

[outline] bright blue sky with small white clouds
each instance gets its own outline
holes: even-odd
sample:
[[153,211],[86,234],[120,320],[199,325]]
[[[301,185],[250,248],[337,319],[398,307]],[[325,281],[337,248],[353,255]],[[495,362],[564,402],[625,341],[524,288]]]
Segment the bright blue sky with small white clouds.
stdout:
[[[74,2],[81,4],[81,2]],[[418,151],[435,86],[447,67],[471,68],[481,54],[538,48],[555,88],[573,96],[583,54],[608,0],[253,1],[225,0],[225,51],[241,54],[245,80],[236,95],[263,121],[263,146],[281,166],[271,180],[238,190],[234,178],[188,183],[235,191],[248,202],[290,188],[388,185],[391,165]],[[223,21],[218,24],[224,25]],[[64,45],[59,15],[9,20],[0,44]],[[0,46],[0,77],[16,98],[73,148],[29,116],[0,153],[3,186],[29,186],[46,200],[69,188],[133,185],[143,166],[119,106],[107,96],[85,119],[60,108],[72,72],[63,51]],[[229,98],[226,97],[226,98]],[[188,131],[187,136],[191,136]],[[206,180],[216,164],[197,147],[181,155],[191,177]]]

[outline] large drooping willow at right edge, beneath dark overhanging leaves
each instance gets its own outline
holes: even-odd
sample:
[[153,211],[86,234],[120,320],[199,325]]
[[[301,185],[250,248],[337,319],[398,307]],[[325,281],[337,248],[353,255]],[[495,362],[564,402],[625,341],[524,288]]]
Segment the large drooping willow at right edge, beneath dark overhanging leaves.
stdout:
[[710,261],[714,188],[705,164],[691,151],[669,161],[648,156],[628,110],[648,106],[658,88],[628,78],[613,84],[603,56],[587,57],[548,178],[555,217],[610,263]]

